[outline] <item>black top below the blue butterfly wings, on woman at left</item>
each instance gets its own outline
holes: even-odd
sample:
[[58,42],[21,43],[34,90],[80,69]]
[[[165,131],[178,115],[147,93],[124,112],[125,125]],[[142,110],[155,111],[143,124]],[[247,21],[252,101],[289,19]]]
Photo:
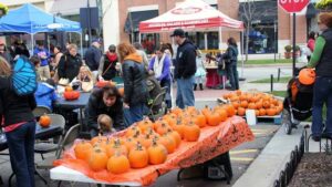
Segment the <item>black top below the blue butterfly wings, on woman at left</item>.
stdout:
[[0,91],[0,122],[4,116],[4,126],[34,120],[32,111],[35,108],[34,95],[19,96],[10,87]]

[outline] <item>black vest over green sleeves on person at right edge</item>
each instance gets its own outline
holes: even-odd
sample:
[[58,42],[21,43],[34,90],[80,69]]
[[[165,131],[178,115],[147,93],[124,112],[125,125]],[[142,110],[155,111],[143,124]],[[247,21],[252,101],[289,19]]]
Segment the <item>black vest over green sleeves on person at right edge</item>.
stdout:
[[332,76],[332,29],[325,30],[320,37],[324,38],[325,45],[315,66],[315,74],[317,76]]

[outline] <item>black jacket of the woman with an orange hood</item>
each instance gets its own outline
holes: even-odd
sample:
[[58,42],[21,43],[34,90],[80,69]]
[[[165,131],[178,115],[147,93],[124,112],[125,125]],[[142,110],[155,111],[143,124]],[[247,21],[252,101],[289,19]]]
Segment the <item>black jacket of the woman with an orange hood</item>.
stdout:
[[146,104],[148,91],[146,86],[146,70],[143,62],[124,60],[122,64],[124,82],[124,102],[129,106]]

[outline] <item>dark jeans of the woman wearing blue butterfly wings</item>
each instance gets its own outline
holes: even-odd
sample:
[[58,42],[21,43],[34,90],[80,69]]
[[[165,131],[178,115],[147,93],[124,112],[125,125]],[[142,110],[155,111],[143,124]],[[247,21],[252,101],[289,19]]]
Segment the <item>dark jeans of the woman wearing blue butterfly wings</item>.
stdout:
[[34,135],[35,122],[28,122],[6,133],[18,187],[34,187]]

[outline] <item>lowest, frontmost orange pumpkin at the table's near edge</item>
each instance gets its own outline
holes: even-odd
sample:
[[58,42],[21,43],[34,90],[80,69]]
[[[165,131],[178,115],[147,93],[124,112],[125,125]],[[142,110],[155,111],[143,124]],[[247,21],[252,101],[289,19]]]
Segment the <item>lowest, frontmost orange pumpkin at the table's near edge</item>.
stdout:
[[107,170],[113,174],[123,174],[131,169],[127,156],[116,152],[115,155],[107,160]]

